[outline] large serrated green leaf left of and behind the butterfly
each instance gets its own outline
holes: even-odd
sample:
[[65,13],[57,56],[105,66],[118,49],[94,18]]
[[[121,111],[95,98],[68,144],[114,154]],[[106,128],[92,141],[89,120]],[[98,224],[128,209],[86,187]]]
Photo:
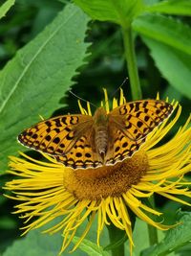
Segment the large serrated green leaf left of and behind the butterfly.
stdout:
[[46,119],[60,107],[60,98],[87,56],[88,21],[79,8],[68,5],[0,72],[1,170],[7,156],[21,149],[17,135],[40,121],[39,114]]

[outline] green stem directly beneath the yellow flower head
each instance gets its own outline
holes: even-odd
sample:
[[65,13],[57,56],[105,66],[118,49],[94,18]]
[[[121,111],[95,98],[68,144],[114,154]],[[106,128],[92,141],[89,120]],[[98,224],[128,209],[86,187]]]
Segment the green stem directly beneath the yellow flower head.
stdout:
[[[124,237],[124,231],[118,229],[114,224],[110,224],[107,226],[109,237],[110,237],[110,247],[112,256],[124,256],[125,250],[124,250],[124,242],[117,244],[117,241],[121,240],[121,236]],[[114,244],[117,244],[117,246],[112,246]]]

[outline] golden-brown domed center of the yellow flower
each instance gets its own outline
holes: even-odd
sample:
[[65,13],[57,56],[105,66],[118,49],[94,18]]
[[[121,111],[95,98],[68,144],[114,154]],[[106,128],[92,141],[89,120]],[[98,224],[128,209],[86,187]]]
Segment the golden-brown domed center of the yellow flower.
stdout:
[[64,185],[78,199],[119,197],[137,184],[147,170],[147,155],[144,151],[138,151],[114,166],[76,171],[68,169],[64,175]]

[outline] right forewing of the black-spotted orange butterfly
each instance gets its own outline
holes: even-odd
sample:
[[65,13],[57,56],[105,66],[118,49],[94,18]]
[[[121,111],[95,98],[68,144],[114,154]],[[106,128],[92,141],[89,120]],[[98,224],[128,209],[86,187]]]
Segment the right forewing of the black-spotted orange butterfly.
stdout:
[[115,108],[110,119],[132,141],[145,138],[173,111],[173,106],[157,100],[128,103]]

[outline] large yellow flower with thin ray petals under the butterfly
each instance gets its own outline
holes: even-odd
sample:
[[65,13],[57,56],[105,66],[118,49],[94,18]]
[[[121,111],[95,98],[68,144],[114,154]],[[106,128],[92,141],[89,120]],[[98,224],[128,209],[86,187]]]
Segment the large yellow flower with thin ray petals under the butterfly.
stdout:
[[[104,92],[105,107],[109,112],[107,93]],[[121,90],[119,105],[124,103]],[[112,222],[117,228],[126,231],[132,253],[134,242],[129,209],[142,221],[161,230],[171,227],[152,220],[151,214],[159,216],[162,213],[148,207],[142,199],[156,193],[190,205],[179,198],[181,195],[191,197],[185,186],[188,183],[183,177],[191,167],[191,128],[188,128],[190,118],[171,140],[157,146],[180,117],[180,105],[172,105],[176,109],[172,120],[166,120],[156,128],[132,158],[115,166],[74,171],[57,163],[47,154],[43,154],[46,162],[32,159],[24,153],[21,153],[24,159],[11,156],[9,173],[19,178],[8,182],[6,189],[14,193],[10,198],[19,201],[15,213],[21,214],[21,218],[27,219],[27,223],[30,221],[25,226],[24,233],[61,216],[62,221],[46,232],[53,234],[63,230],[62,252],[73,240],[78,226],[89,217],[75,249],[88,233],[97,215],[97,244],[104,225]],[[91,114],[90,105],[87,110],[80,103],[79,106],[83,114]],[[113,101],[113,108],[115,107],[116,99]]]

